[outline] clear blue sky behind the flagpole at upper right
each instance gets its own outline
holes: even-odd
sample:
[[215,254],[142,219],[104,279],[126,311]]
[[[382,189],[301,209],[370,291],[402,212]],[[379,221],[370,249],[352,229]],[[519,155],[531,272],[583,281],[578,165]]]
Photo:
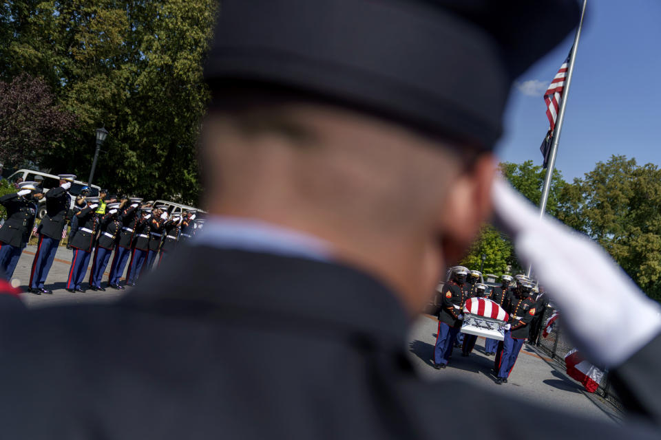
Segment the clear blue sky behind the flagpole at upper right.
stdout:
[[[661,1],[588,0],[556,168],[582,177],[613,154],[661,165]],[[548,129],[543,91],[572,34],[519,78],[499,142],[502,160],[541,164]]]

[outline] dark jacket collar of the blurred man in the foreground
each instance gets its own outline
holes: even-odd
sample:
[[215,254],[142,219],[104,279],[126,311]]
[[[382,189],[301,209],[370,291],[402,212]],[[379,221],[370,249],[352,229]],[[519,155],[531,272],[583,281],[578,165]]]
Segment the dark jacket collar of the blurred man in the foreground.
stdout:
[[397,347],[406,342],[409,321],[399,299],[351,267],[199,242],[176,252],[124,305],[211,319],[243,316],[255,325],[362,335]]

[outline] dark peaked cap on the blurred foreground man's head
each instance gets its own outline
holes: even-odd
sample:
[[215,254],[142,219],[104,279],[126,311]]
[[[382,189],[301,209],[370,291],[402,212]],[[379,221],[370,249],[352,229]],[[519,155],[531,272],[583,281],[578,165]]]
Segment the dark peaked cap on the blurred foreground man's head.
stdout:
[[514,79],[578,23],[575,0],[225,0],[204,78],[282,87],[491,149]]

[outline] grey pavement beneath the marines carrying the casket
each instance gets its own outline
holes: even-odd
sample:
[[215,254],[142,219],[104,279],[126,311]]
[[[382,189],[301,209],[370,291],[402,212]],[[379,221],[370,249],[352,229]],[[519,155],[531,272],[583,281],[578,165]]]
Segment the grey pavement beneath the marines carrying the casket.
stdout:
[[507,384],[498,385],[491,370],[494,356],[484,354],[484,339],[478,338],[468,358],[461,349],[454,349],[448,368],[432,368],[438,321],[423,315],[412,328],[410,353],[420,373],[429,380],[461,378],[489,388],[497,393],[514,395],[524,401],[565,410],[574,415],[605,421],[619,421],[622,414],[596,395],[587,393],[582,385],[571,380],[561,367],[527,344],[521,349]]

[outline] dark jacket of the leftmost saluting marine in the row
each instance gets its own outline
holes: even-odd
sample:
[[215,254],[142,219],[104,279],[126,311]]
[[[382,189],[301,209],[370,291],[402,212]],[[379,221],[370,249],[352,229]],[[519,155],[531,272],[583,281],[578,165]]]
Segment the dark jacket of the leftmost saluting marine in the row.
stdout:
[[0,197],[0,203],[7,210],[7,220],[0,228],[0,241],[14,248],[25,248],[34,225],[36,203],[16,192]]

